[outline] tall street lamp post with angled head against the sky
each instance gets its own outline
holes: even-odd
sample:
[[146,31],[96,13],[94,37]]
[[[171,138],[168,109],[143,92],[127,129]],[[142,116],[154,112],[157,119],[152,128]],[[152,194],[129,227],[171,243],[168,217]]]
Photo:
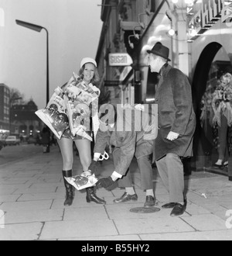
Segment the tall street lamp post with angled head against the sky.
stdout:
[[16,24],[19,26],[25,26],[28,29],[40,32],[42,29],[46,31],[46,104],[49,102],[49,33],[43,26],[35,25],[29,22],[23,22],[19,19],[15,19]]

